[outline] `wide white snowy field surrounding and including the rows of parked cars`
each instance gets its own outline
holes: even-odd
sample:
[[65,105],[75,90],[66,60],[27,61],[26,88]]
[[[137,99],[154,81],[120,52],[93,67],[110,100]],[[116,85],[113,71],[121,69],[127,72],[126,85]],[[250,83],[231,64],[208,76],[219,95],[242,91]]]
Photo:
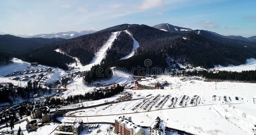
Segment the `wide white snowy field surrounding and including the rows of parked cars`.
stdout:
[[[146,100],[139,99],[112,106],[78,110],[70,116],[80,116],[87,121],[84,117],[87,115],[90,116],[88,117],[90,122],[113,123],[116,116],[126,115],[132,116],[133,122],[141,126],[150,126],[153,120],[160,116],[168,127],[195,134],[254,134],[252,129],[256,129],[254,126],[256,124],[255,83],[220,82],[215,84],[199,80],[191,80],[195,83],[190,83],[190,81],[180,81],[178,77],[164,75],[161,77],[165,78],[168,83],[172,83],[172,89],[171,85],[166,85],[164,89],[160,90],[126,90],[127,92],[136,92],[136,95],[152,94],[152,96],[147,97]],[[160,94],[158,96],[160,99],[153,100],[158,94]],[[170,98],[167,98],[166,101],[167,95],[170,95]],[[184,99],[188,98],[187,106],[184,102],[180,105],[184,95],[186,95]],[[195,95],[199,97],[200,103],[190,104],[189,101]],[[172,97],[177,97],[177,106],[168,107],[172,103]],[[162,103],[166,102],[162,109],[159,108],[162,104],[155,107],[163,99]],[[156,101],[155,105],[151,110],[151,105],[144,110],[143,108],[150,101]],[[140,105],[136,107],[138,104]],[[135,109],[132,110],[134,107]]]

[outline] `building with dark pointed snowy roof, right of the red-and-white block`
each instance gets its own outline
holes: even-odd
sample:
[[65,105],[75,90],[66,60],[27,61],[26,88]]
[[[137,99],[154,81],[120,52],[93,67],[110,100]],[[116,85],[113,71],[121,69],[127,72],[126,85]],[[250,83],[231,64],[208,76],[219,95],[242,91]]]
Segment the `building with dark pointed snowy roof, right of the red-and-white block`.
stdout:
[[156,118],[150,126],[150,135],[165,135],[166,123],[161,122],[159,117]]

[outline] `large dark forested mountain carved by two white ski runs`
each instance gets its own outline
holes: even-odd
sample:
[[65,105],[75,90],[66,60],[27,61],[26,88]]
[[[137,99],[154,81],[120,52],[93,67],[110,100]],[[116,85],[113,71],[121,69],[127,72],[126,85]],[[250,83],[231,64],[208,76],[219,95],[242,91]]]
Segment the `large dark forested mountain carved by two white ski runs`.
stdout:
[[[140,44],[135,56],[129,58],[131,60],[118,60],[117,58],[120,57],[120,54],[116,57],[115,51],[123,47],[118,45],[114,52],[113,50],[111,51],[111,49],[108,50],[107,54],[109,56],[103,60],[105,66],[127,68],[130,67],[130,65],[140,65],[143,60],[149,58],[148,56],[154,56],[150,57],[154,59],[152,61],[155,61],[155,63],[152,63],[152,68],[164,68],[168,65],[165,61],[168,56],[174,59],[188,60],[188,62],[194,66],[211,68],[215,65],[227,66],[229,64],[244,64],[246,59],[256,57],[255,43],[253,42],[222,38],[204,30],[189,29],[188,31],[174,30],[166,32],[147,25],[137,24],[117,25],[93,34],[62,41],[58,44],[62,51],[71,56],[78,57],[80,62],[86,65],[90,63],[95,52],[108,40],[111,32],[124,30],[128,30]],[[198,31],[200,31],[199,34]],[[122,41],[122,44],[130,44],[129,38],[125,40],[127,41]],[[127,50],[129,50],[129,48],[127,48]],[[110,59],[110,56],[115,58]],[[127,65],[127,63],[129,65]]]

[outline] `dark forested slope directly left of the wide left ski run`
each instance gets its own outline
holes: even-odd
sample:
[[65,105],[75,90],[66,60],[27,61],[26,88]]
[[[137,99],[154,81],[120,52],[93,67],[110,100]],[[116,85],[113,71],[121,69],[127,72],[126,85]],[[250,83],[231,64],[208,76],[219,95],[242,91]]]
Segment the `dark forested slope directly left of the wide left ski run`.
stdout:
[[87,34],[59,42],[60,50],[77,57],[82,65],[89,64],[94,54],[100,50],[112,32],[126,30],[129,24],[117,25],[92,34]]

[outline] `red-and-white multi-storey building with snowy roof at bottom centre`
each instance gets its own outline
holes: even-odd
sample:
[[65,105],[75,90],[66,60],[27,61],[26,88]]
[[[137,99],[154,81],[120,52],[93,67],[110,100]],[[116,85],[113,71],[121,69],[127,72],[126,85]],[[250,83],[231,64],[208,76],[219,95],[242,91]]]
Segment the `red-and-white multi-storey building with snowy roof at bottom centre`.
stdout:
[[115,119],[115,133],[118,135],[145,135],[140,125],[132,122],[132,117],[119,116]]

